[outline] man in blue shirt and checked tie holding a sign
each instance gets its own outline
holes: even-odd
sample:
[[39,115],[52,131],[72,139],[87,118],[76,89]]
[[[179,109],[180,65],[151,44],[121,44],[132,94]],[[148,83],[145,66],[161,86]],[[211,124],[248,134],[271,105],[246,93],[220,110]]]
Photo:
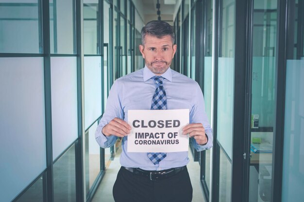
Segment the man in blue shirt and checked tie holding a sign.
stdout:
[[[203,93],[186,76],[170,69],[176,52],[172,27],[151,21],[141,31],[140,52],[146,66],[118,78],[109,93],[107,107],[95,137],[103,148],[122,138],[121,168],[113,187],[116,202],[191,202],[192,186],[186,164],[188,152],[127,152],[130,109],[189,109],[183,135],[192,137],[197,151],[212,147],[212,129],[204,108]],[[156,158],[154,158],[156,157]],[[198,188],[198,187],[197,187]]]

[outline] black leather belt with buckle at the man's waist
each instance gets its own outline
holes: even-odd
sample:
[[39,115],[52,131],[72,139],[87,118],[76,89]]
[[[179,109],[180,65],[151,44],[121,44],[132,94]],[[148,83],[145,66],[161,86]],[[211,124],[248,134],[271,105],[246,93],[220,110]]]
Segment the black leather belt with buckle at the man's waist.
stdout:
[[142,170],[140,168],[127,168],[123,167],[125,170],[130,171],[136,175],[142,175],[147,177],[150,180],[156,181],[156,180],[163,180],[169,177],[172,177],[173,175],[176,175],[180,171],[184,171],[186,169],[186,166],[178,167],[178,168],[172,168],[168,170],[162,170],[162,171],[146,171]]

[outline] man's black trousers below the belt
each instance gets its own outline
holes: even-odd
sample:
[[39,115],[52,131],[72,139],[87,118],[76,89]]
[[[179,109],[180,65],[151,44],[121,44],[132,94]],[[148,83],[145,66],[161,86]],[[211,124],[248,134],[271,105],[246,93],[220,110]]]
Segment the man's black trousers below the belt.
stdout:
[[192,185],[187,169],[167,179],[151,181],[120,168],[113,196],[115,202],[191,202]]

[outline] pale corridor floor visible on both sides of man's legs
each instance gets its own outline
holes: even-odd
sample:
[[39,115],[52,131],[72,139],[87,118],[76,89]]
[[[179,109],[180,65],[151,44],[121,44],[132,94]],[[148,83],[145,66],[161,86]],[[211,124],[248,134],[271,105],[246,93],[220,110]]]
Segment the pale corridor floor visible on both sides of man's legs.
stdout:
[[[119,164],[119,151],[115,155],[114,160],[111,162],[108,170],[106,171],[100,186],[98,187],[96,194],[92,202],[114,202],[112,195],[112,188],[116,180]],[[203,199],[203,190],[200,183],[200,166],[198,162],[194,162],[192,155],[189,153],[190,162],[187,165],[191,183],[193,187],[193,199],[192,202],[205,202]]]

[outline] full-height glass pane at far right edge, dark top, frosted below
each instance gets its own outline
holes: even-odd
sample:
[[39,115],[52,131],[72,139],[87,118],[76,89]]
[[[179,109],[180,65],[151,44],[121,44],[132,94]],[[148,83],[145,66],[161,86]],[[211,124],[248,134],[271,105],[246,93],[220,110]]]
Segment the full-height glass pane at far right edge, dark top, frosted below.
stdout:
[[289,4],[282,202],[304,198],[304,1]]

